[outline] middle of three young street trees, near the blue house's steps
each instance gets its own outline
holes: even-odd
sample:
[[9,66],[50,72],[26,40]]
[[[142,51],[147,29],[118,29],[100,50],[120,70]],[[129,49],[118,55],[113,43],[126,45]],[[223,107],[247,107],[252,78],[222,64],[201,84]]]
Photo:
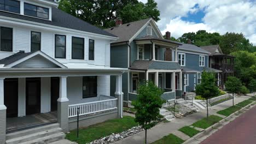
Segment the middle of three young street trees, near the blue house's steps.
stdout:
[[196,85],[196,94],[201,95],[202,98],[206,99],[207,106],[207,118],[208,118],[208,99],[218,95],[219,89],[216,86],[216,78],[214,73],[203,71],[202,80],[199,85]]

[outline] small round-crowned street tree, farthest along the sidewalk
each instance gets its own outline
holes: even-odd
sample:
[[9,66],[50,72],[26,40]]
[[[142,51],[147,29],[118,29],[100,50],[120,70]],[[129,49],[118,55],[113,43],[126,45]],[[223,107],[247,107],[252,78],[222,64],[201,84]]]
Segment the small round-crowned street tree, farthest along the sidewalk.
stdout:
[[232,93],[234,105],[234,93],[238,93],[242,87],[242,83],[235,76],[229,76],[225,83],[226,91]]

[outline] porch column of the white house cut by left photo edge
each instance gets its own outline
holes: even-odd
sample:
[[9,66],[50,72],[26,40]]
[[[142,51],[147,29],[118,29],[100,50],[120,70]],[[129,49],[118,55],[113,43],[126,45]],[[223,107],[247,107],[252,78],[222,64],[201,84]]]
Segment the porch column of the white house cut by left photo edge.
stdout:
[[5,143],[6,106],[4,105],[4,78],[0,78],[0,143]]

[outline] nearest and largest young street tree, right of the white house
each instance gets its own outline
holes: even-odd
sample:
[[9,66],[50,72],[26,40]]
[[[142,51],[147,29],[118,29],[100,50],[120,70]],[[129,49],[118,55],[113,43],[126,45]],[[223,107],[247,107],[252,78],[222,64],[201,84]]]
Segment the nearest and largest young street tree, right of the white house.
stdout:
[[162,117],[160,108],[165,103],[161,99],[162,90],[153,82],[146,82],[138,89],[137,100],[132,101],[135,113],[135,121],[145,129],[145,143],[147,143],[147,130],[154,127]]

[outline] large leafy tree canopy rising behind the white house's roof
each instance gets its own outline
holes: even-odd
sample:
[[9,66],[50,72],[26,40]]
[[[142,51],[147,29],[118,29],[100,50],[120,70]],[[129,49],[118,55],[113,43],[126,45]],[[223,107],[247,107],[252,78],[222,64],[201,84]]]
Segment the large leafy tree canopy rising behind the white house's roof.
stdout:
[[159,21],[160,11],[154,0],[59,0],[59,9],[97,27],[115,26],[115,20],[124,23],[152,17]]

